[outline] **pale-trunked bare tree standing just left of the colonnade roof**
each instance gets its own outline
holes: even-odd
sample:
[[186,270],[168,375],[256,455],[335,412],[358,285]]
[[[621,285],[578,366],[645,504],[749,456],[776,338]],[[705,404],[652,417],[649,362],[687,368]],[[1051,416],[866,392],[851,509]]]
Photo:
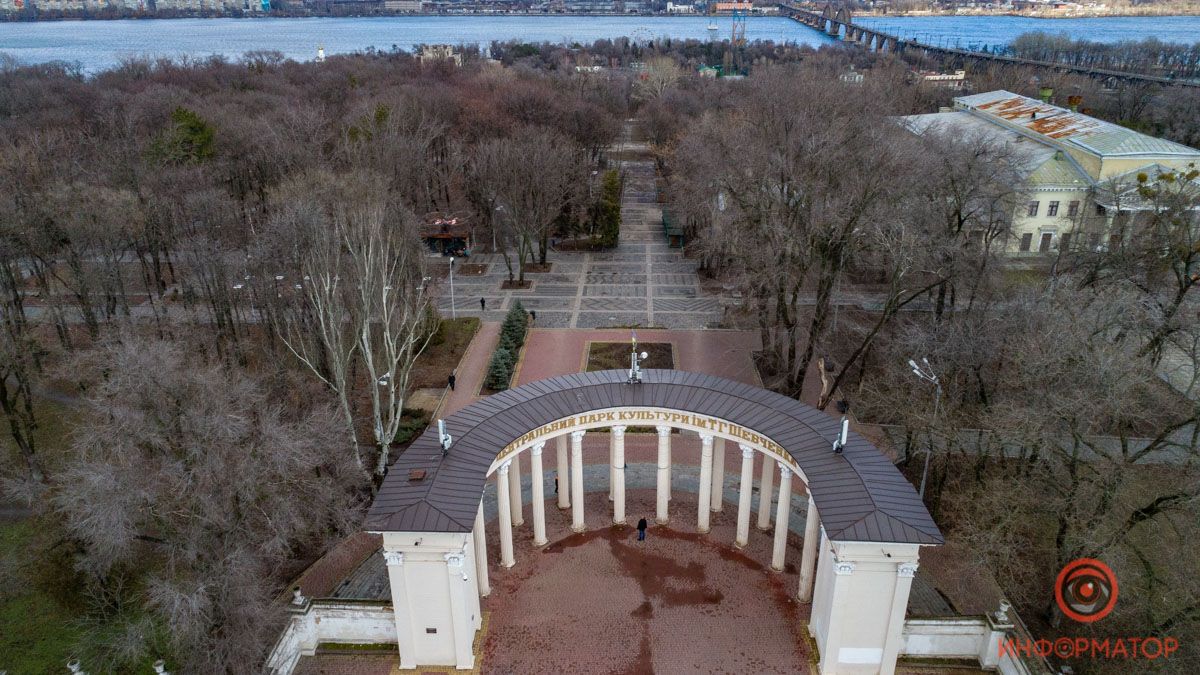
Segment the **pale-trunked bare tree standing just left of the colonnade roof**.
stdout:
[[[413,363],[437,329],[416,219],[389,198],[382,177],[367,173],[307,175],[281,190],[278,202],[260,283],[292,299],[284,341],[334,392],[364,468],[354,400],[366,394],[382,477]],[[365,390],[355,389],[356,366]]]

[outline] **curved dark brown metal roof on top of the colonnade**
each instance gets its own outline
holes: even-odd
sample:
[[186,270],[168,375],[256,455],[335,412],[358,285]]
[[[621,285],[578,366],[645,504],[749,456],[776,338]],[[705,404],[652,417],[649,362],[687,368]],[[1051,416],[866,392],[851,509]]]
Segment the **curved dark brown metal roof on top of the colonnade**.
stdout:
[[[488,396],[445,420],[445,456],[431,425],[392,465],[367,513],[372,532],[469,532],[497,453],[527,431],[580,413],[659,407],[716,417],[767,436],[809,479],[830,539],[941,544],[937,525],[912,485],[882,453],[851,432],[832,452],[838,420],[794,399],[732,380],[678,370],[620,370],[532,382]],[[424,470],[421,479],[412,472]]]

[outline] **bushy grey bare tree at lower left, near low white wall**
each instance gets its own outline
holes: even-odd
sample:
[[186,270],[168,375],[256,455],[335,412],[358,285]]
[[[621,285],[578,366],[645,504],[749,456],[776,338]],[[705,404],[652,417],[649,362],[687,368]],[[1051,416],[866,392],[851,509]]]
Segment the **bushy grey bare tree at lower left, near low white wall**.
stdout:
[[163,628],[132,631],[120,649],[89,640],[102,652],[94,662],[128,670],[166,635],[192,670],[252,670],[282,623],[272,597],[288,561],[320,552],[354,519],[361,473],[328,452],[330,411],[178,344],[107,346],[71,372],[91,412],[54,506],[89,595],[106,601],[91,609],[110,626],[142,615]]

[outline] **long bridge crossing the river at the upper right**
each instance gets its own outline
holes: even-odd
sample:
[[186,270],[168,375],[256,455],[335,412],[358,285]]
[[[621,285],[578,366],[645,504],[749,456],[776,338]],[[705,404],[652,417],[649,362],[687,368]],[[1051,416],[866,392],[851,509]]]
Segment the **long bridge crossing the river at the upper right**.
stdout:
[[850,7],[834,5],[833,2],[824,5],[821,11],[802,7],[791,2],[780,2],[779,11],[780,14],[800,22],[815,30],[820,30],[833,37],[841,37],[846,42],[859,44],[866,49],[877,49],[880,52],[901,53],[906,50],[922,50],[926,54],[950,56],[962,62],[994,61],[1020,66],[1037,66],[1058,72],[1074,72],[1108,80],[1151,82],[1176,86],[1200,86],[1200,80],[1194,79],[1176,79],[1145,73],[1093,68],[1056,61],[1036,61],[1032,59],[1006,56],[1003,54],[991,54],[989,52],[974,52],[958,47],[940,47],[937,44],[926,44],[914,40],[905,40],[895,35],[856,24],[854,17],[850,12]]

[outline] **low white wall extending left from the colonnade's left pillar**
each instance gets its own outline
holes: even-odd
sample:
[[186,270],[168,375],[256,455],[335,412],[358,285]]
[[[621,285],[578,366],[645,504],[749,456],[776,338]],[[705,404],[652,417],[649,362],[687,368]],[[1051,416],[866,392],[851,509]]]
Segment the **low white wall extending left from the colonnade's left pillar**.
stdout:
[[292,619],[266,659],[266,671],[290,675],[301,656],[312,656],[322,643],[395,644],[391,605],[346,601],[310,601],[294,607]]

